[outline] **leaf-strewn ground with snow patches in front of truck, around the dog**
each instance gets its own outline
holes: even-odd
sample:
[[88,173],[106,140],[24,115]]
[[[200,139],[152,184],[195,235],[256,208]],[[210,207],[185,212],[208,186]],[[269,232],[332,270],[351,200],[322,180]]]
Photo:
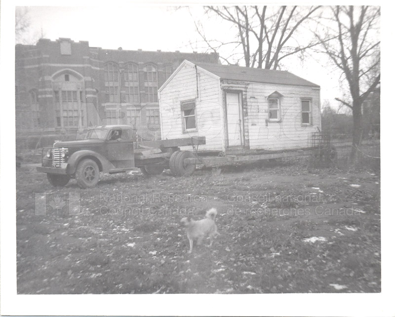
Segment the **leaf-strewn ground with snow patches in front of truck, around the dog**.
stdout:
[[[378,171],[283,160],[83,190],[16,173],[19,294],[381,291]],[[220,236],[188,254],[180,219],[211,207]]]

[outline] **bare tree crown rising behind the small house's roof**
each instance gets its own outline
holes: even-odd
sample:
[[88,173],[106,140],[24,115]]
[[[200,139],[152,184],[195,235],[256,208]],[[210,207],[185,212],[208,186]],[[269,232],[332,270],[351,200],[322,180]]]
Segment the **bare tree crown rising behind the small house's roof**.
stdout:
[[[314,37],[307,40],[306,36],[297,38],[296,35],[309,20],[312,21],[319,7],[206,6],[205,12],[236,26],[237,39],[232,43],[241,47],[241,59],[246,67],[276,70],[284,58],[318,44]],[[218,45],[214,47],[202,29],[197,30],[203,41],[215,51],[230,44],[217,41]],[[231,57],[235,55],[234,51],[232,54]],[[222,58],[229,63],[229,57]]]

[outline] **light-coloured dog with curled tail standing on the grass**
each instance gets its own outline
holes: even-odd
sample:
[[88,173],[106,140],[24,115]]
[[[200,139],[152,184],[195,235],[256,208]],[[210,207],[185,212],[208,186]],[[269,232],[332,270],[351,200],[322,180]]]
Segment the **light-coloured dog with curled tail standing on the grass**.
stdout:
[[212,246],[214,238],[219,235],[217,231],[217,225],[215,224],[215,217],[217,210],[211,208],[206,212],[206,217],[201,220],[194,220],[190,217],[184,217],[181,219],[181,223],[186,227],[187,237],[189,239],[189,251],[192,253],[194,247],[194,240],[197,240],[197,245],[200,245],[203,238],[208,236],[210,238],[210,245]]

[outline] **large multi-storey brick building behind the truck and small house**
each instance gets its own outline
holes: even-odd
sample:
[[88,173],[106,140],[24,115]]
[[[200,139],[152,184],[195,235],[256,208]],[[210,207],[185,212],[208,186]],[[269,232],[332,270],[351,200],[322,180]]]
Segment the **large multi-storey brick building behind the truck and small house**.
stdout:
[[69,38],[15,47],[16,132],[75,133],[100,124],[130,124],[158,137],[158,87],[185,59],[218,55],[89,47]]

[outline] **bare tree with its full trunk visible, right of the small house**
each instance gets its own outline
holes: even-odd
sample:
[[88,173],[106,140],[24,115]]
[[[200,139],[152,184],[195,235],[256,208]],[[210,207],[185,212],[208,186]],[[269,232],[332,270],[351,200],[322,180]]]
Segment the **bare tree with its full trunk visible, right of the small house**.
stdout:
[[[380,7],[334,6],[324,32],[316,32],[324,52],[339,68],[348,83],[351,101],[336,98],[353,113],[353,150],[351,159],[362,138],[362,103],[380,84]],[[334,37],[335,36],[335,37]],[[333,40],[327,40],[327,38]]]

